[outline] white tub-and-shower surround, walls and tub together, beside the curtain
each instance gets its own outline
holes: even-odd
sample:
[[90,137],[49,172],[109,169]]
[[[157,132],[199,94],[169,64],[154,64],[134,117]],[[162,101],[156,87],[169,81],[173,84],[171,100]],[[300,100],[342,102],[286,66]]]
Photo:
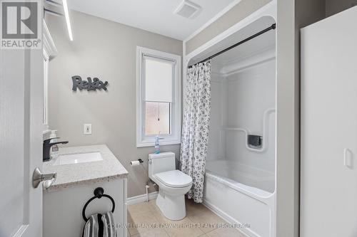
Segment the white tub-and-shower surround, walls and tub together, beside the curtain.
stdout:
[[[273,23],[263,16],[229,36],[226,45],[201,52],[202,58]],[[275,170],[276,31],[268,31],[211,60],[203,204],[248,236],[275,236]]]

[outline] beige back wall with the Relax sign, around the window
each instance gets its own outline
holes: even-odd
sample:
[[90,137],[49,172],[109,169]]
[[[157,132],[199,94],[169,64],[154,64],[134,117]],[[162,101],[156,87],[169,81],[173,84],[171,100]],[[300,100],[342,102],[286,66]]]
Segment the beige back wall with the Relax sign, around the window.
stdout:
[[[64,20],[46,16],[59,51],[50,62],[49,125],[69,146],[107,144],[129,171],[128,196],[145,194],[147,157],[154,147],[136,148],[136,46],[182,56],[182,41],[71,11],[74,41]],[[109,82],[108,92],[72,92],[72,75]],[[83,124],[92,135],[83,135]],[[178,158],[179,145],[161,147]],[[144,159],[141,167],[129,162]]]

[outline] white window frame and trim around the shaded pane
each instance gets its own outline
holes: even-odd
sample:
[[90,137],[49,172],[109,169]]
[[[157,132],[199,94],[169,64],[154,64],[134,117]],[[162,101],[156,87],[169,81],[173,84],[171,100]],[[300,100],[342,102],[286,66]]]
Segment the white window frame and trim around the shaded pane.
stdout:
[[170,104],[170,135],[160,135],[161,145],[181,143],[181,56],[156,51],[150,48],[136,47],[136,147],[154,147],[155,135],[145,135],[145,67],[144,57],[171,60],[174,63],[172,82],[173,98]]

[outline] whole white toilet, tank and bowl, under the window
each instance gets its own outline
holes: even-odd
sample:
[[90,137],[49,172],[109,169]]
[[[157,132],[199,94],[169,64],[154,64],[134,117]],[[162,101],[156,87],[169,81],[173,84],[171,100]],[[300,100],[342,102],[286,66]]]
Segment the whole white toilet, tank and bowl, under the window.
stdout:
[[176,170],[175,154],[149,154],[149,178],[159,185],[156,205],[170,220],[186,216],[185,194],[191,189],[192,178]]

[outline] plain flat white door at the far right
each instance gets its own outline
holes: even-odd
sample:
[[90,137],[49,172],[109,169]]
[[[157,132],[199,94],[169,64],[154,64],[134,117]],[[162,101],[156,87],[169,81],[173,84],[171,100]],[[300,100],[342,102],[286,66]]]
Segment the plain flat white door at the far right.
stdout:
[[301,236],[357,236],[357,7],[301,31]]

